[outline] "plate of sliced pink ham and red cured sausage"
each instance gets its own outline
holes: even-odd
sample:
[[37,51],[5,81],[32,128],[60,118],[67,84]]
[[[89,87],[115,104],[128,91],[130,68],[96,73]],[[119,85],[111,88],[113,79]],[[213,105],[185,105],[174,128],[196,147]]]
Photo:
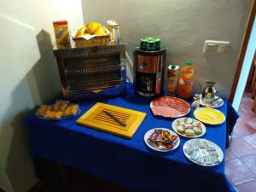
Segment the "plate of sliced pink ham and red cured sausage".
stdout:
[[162,96],[150,102],[152,113],[166,118],[183,117],[190,112],[189,103],[174,96]]

